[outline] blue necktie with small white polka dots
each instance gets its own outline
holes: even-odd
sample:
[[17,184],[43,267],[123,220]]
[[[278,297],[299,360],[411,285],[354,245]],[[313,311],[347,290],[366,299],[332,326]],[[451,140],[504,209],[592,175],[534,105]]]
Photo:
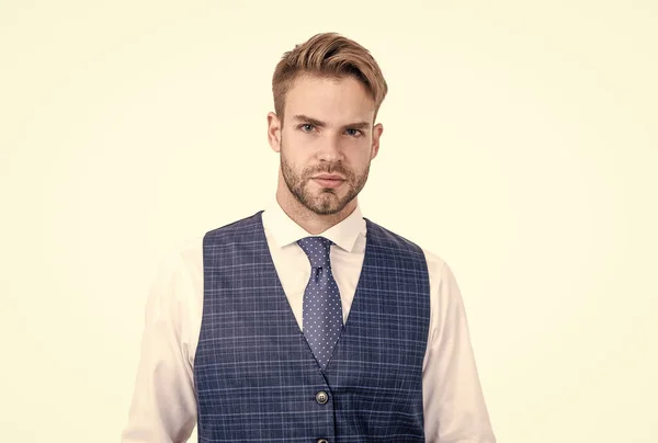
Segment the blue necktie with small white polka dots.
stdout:
[[342,330],[340,293],[329,258],[332,243],[324,237],[306,237],[297,243],[310,261],[310,279],[304,292],[304,337],[325,371]]

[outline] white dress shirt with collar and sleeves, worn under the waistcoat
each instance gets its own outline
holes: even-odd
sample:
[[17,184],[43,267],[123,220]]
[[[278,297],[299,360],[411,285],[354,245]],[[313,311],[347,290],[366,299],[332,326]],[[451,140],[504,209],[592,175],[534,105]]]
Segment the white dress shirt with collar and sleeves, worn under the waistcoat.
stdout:
[[[308,258],[296,243],[310,236],[276,200],[262,215],[268,246],[302,329]],[[356,207],[321,236],[347,318],[365,255],[366,224]],[[196,425],[194,354],[203,307],[203,237],[162,260],[146,306],[141,356],[123,443],[185,442]],[[447,264],[424,251],[430,276],[430,331],[422,391],[428,443],[496,443],[475,364],[460,288]]]

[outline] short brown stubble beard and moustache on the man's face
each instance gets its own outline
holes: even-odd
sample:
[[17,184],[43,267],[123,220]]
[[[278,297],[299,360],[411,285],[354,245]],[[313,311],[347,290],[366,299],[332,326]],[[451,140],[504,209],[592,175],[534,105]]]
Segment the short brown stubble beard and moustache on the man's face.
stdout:
[[[333,215],[340,213],[345,206],[359,195],[370,173],[370,162],[361,173],[355,174],[340,163],[319,166],[316,168],[306,168],[302,172],[297,172],[285,157],[285,149],[281,148],[281,172],[287,189],[295,198],[308,211],[317,215]],[[345,178],[343,186],[348,186],[348,192],[340,197],[338,190],[325,188],[319,191],[319,194],[314,195],[309,190],[311,177],[319,173],[340,173]]]

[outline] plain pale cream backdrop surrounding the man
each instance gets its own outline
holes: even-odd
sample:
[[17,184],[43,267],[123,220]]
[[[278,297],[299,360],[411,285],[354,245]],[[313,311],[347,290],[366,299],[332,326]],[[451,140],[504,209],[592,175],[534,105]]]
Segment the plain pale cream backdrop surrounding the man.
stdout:
[[390,92],[364,215],[451,265],[500,443],[658,441],[656,1],[0,3],[2,442],[116,442],[175,243],[261,209],[285,50]]

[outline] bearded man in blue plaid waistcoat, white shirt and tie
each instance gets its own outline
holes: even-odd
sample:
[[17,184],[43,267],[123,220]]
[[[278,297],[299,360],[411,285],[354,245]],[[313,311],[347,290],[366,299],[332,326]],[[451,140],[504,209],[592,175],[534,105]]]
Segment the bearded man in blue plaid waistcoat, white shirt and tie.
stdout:
[[164,262],[123,442],[494,443],[450,268],[359,208],[376,61],[318,34],[273,92],[275,198]]

